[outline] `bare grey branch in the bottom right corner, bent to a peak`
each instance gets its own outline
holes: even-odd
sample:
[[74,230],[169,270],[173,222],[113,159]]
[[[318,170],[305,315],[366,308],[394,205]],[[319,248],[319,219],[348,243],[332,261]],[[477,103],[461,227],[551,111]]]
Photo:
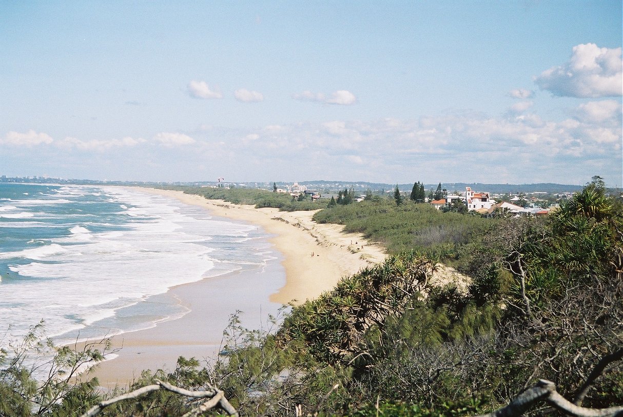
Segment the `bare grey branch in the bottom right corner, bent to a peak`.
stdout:
[[477,417],[516,417],[521,416],[540,401],[574,417],[622,417],[623,406],[609,408],[584,408],[571,403],[556,391],[556,384],[547,380],[539,380],[535,385],[523,391],[511,403],[489,414]]

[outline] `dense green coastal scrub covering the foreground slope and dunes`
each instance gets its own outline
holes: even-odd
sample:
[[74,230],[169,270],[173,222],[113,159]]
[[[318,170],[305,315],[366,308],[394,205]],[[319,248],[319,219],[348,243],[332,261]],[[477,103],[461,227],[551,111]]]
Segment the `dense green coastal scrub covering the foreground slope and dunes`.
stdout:
[[[392,243],[384,263],[285,309],[264,329],[244,329],[234,314],[216,363],[180,358],[174,372],[145,371],[132,388],[156,378],[189,390],[211,383],[241,415],[271,416],[477,415],[540,378],[581,406],[623,403],[623,208],[599,184],[547,218],[493,221],[391,200],[316,217],[378,241],[387,233],[388,245],[393,231],[411,250]],[[427,248],[450,243],[467,289],[435,282],[426,255],[440,250]],[[23,367],[0,358],[0,415],[30,415],[24,399],[40,391]],[[92,387],[68,385],[67,401],[54,402],[50,385],[36,398],[48,401],[50,415],[75,415],[101,400]],[[183,415],[189,404],[156,391],[102,415]]]

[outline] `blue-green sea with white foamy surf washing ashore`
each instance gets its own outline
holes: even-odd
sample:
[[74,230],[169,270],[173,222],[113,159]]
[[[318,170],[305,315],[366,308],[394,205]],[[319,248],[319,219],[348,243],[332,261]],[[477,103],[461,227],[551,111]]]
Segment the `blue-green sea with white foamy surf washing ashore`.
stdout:
[[[278,260],[266,238],[253,225],[128,187],[2,183],[0,347],[40,321],[64,344],[181,317],[186,307],[156,294],[242,269],[262,276]],[[282,273],[268,279],[267,290],[284,281]]]

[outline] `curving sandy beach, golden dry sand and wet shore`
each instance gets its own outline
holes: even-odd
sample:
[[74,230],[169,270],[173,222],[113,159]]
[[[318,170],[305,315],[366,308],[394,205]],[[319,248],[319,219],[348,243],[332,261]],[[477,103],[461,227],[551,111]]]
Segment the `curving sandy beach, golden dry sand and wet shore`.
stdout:
[[[184,204],[197,205],[209,210],[211,215],[237,222],[257,225],[271,235],[269,241],[282,255],[285,285],[276,292],[262,288],[261,280],[249,279],[245,274],[234,273],[227,279],[226,293],[219,294],[219,279],[197,281],[169,290],[162,297],[188,307],[181,319],[161,322],[151,329],[139,330],[113,337],[113,349],[121,348],[118,357],[100,363],[92,375],[102,387],[126,387],[140,377],[141,370],[173,370],[177,358],[196,357],[199,360],[214,357],[221,346],[222,330],[227,321],[216,321],[215,312],[232,309],[231,300],[242,300],[253,294],[253,300],[266,303],[298,304],[315,298],[335,286],[343,276],[382,261],[384,248],[373,245],[355,233],[343,233],[340,225],[318,224],[312,221],[314,212],[280,212],[276,208],[254,208],[252,205],[235,205],[221,200],[207,200],[199,195],[173,190],[136,189],[140,192],[163,195]],[[313,256],[312,256],[313,254]],[[270,274],[271,271],[262,271]],[[206,302],[206,291],[217,291]],[[225,291],[224,291],[225,292]],[[265,293],[265,294],[264,294]],[[247,317],[265,321],[262,306],[249,302]],[[231,311],[233,313],[234,311]],[[222,316],[222,314],[220,315]]]

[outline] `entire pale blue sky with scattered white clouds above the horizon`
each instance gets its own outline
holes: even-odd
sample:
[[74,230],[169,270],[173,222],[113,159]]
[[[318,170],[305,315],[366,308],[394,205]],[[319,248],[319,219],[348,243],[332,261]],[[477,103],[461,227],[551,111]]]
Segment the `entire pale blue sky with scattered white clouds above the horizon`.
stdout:
[[623,186],[616,1],[0,1],[0,175]]

